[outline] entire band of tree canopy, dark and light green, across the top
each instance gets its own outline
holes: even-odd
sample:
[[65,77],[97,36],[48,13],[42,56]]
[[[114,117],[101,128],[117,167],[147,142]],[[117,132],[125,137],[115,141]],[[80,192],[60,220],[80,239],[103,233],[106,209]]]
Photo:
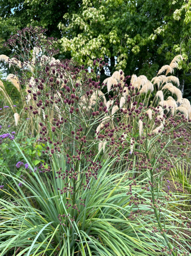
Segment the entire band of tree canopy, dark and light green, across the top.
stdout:
[[59,38],[62,58],[92,65],[102,57],[111,72],[149,79],[182,54],[183,84],[190,83],[190,8],[191,0],[0,0],[0,34],[40,25]]

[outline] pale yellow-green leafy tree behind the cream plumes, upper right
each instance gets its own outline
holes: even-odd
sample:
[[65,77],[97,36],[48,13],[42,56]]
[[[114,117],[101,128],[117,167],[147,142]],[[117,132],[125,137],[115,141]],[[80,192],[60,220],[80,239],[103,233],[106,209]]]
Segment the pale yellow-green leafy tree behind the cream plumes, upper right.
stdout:
[[[182,54],[177,71],[185,89],[190,84],[190,0],[84,0],[77,13],[66,13],[59,24],[62,53],[92,65],[96,57],[110,61],[111,73],[144,74],[149,79]],[[67,25],[66,25],[67,21]]]

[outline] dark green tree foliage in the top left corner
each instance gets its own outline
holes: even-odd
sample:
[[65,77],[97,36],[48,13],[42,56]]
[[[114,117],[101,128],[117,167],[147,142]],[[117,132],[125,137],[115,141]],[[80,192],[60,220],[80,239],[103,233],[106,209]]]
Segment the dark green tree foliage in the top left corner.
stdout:
[[26,26],[42,26],[47,36],[61,38],[58,24],[65,13],[78,12],[82,0],[0,0],[0,36]]

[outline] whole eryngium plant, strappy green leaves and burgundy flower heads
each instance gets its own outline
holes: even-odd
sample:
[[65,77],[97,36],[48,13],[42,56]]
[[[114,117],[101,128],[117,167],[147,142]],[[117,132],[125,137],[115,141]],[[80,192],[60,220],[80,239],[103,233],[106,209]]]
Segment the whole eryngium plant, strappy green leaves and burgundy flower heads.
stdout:
[[[111,104],[106,106],[101,92],[104,84],[99,81],[99,72],[104,65],[101,59],[93,62],[98,74],[94,75],[94,69],[91,70],[92,78],[89,78],[85,93],[83,83],[78,83],[77,79],[81,72],[88,70],[82,66],[71,71],[67,63],[46,65],[43,78],[35,78],[36,93],[28,89],[35,104],[26,110],[31,111],[34,117],[42,117],[39,140],[46,143],[43,153],[50,156],[54,167],[45,164],[42,168],[41,174],[46,175],[49,181],[47,187],[42,178],[34,173],[37,179],[35,186],[40,184],[43,187],[43,198],[45,202],[48,200],[47,209],[52,215],[46,222],[43,214],[46,206],[39,197],[38,187],[37,205],[41,205],[43,210],[38,212],[34,209],[34,213],[39,213],[42,216],[40,220],[44,222],[38,230],[34,230],[31,241],[27,241],[31,244],[30,250],[21,240],[19,246],[28,250],[28,255],[31,251],[32,255],[54,255],[54,252],[57,255],[111,256],[188,253],[190,246],[185,246],[188,237],[184,237],[184,231],[190,232],[188,221],[191,220],[185,216],[182,225],[170,211],[173,193],[164,175],[174,168],[176,162],[189,157],[190,134],[185,126],[191,120],[182,114],[171,116],[163,113],[158,117],[160,109],[150,107],[156,122],[149,125],[144,104],[138,103],[139,92],[135,93],[128,82],[129,76],[121,76],[111,88]],[[120,106],[119,98],[123,93],[126,97]],[[123,109],[124,105],[129,107]],[[49,118],[51,112],[54,119]],[[124,119],[129,123],[123,122]],[[134,137],[132,119],[142,122],[139,140]],[[161,123],[163,126],[157,128]],[[157,132],[153,131],[155,128]],[[108,148],[105,161],[100,154],[95,155],[96,146],[100,143]],[[121,166],[120,162],[123,163]],[[13,179],[17,180],[17,177]],[[25,181],[25,184],[30,191],[34,191],[30,183]],[[20,194],[22,187],[18,190]],[[101,199],[93,202],[92,197],[97,193]],[[22,194],[21,201],[24,196]],[[22,220],[26,227],[25,219]],[[51,226],[54,226],[52,231]],[[9,233],[6,232],[6,235]],[[14,244],[14,248],[16,246]],[[8,247],[6,244],[2,246],[4,251]]]

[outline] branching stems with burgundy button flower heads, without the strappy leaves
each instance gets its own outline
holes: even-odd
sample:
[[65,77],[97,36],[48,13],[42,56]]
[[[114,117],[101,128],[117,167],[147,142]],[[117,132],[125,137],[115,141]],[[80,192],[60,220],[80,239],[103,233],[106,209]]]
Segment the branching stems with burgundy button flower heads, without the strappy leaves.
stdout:
[[[105,62],[100,59],[93,63],[95,70],[99,69],[99,71],[104,65],[106,65]],[[159,107],[148,107],[155,119],[154,125],[149,125],[144,104],[139,102],[138,105],[136,101],[139,92],[135,93],[133,86],[128,84],[129,76],[120,77],[119,83],[111,88],[111,104],[104,106],[105,96],[101,93],[104,84],[99,81],[99,72],[95,77],[89,78],[88,89],[83,95],[83,84],[76,83],[77,77],[83,71],[84,67],[81,67],[81,69],[76,68],[75,72],[71,72],[67,63],[66,65],[46,66],[46,79],[35,79],[39,91],[33,94],[36,107],[31,109],[34,115],[38,115],[40,111],[45,114],[45,119],[39,124],[42,135],[40,140],[47,142],[45,153],[53,159],[54,155],[67,158],[66,169],[57,167],[56,179],[62,180],[62,186],[58,188],[60,194],[70,198],[67,205],[68,208],[72,208],[70,220],[74,221],[79,214],[80,201],[76,197],[77,191],[81,187],[84,187],[84,190],[90,189],[91,180],[97,179],[102,167],[100,161],[93,161],[92,156],[95,151],[91,151],[91,149],[95,149],[93,148],[95,144],[102,142],[111,151],[108,153],[108,157],[111,159],[116,157],[116,162],[125,161],[127,163],[127,172],[134,172],[134,176],[142,172],[146,173],[149,180],[142,190],[143,193],[145,190],[150,191],[151,204],[148,208],[155,214],[157,228],[163,237],[161,243],[165,244],[175,255],[177,248],[173,249],[174,246],[165,229],[165,211],[161,210],[161,205],[165,205],[165,200],[168,201],[171,194],[167,189],[163,202],[160,200],[156,202],[156,195],[157,189],[161,187],[163,175],[169,172],[169,169],[173,168],[177,161],[189,157],[191,139],[185,126],[191,120],[180,113],[176,116],[165,113],[161,115]],[[87,70],[85,71],[87,72]],[[62,81],[62,77],[67,78]],[[61,89],[62,82],[64,84]],[[28,92],[30,93],[30,90]],[[120,107],[118,99],[124,92],[126,98]],[[123,105],[127,103],[129,103],[129,108],[123,109]],[[116,106],[116,109],[113,106]],[[54,111],[54,123],[50,123],[46,114],[47,109]],[[129,116],[138,122],[141,121],[141,129],[144,132],[140,132],[140,134],[143,133],[144,136],[140,136],[139,140],[132,137],[134,129],[132,124],[121,122],[122,119],[128,119]],[[112,123],[109,122],[111,119]],[[158,124],[162,125],[158,127]],[[100,129],[97,130],[99,125]],[[92,131],[96,132],[93,137]],[[46,171],[49,172],[50,169],[45,169],[44,172]],[[127,194],[131,195],[132,186]],[[141,202],[145,203],[144,200],[139,201],[139,196],[130,197],[130,205],[137,206]]]

